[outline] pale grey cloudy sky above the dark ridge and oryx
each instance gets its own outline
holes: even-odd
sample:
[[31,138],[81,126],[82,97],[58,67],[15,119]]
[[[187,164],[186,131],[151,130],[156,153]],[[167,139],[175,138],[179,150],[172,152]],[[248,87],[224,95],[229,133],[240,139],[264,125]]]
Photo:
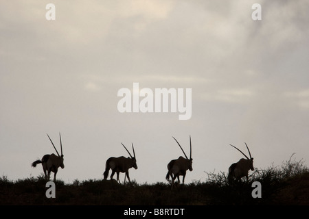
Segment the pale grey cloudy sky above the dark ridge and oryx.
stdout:
[[[47,3],[56,20],[47,21]],[[262,21],[251,6],[262,5]],[[308,1],[1,1],[0,175],[60,147],[58,178],[102,179],[108,157],[135,145],[137,183],[165,182],[189,155],[186,182],[227,172],[247,153],[266,168],[309,162]],[[120,88],[192,88],[192,117],[120,113]],[[60,149],[58,149],[59,151]],[[205,171],[205,172],[204,172]],[[124,179],[124,175],[121,175]]]

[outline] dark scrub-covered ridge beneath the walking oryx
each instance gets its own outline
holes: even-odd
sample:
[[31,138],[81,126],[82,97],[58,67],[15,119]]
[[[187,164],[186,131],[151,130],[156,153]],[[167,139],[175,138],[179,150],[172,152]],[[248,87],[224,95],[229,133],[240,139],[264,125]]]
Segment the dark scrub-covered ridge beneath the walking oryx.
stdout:
[[[119,185],[115,181],[56,181],[56,198],[46,198],[43,175],[11,181],[0,178],[0,205],[309,205],[309,169],[290,159],[282,166],[251,172],[249,181],[228,183],[225,172],[206,172],[207,180]],[[262,198],[253,198],[253,181],[262,184]]]

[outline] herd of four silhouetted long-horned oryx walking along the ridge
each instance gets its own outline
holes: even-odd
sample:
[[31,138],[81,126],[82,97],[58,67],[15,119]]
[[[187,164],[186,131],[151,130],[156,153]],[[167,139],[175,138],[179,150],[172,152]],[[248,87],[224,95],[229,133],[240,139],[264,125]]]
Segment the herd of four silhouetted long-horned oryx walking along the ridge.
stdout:
[[[47,137],[49,138],[48,134],[47,134]],[[50,172],[54,172],[54,181],[56,181],[56,175],[57,175],[57,172],[58,172],[58,168],[59,167],[61,167],[62,169],[65,168],[65,165],[63,164],[62,142],[61,142],[60,133],[59,133],[59,137],[60,137],[61,155],[59,155],[54,143],[52,142],[52,139],[49,138],[49,140],[50,140],[50,142],[52,142],[52,145],[54,146],[54,149],[56,150],[56,153],[57,153],[58,156],[55,155],[54,153],[52,153],[51,155],[44,155],[41,160],[38,159],[38,160],[36,160],[35,162],[32,163],[32,167],[36,167],[36,164],[42,164],[46,180],[49,180]],[[174,138],[174,137],[172,137],[172,138]],[[181,151],[183,151],[183,148],[181,147],[179,142],[176,140],[176,138],[174,138],[174,140],[177,142],[177,144],[181,148]],[[246,143],[244,143],[244,144],[246,144]],[[124,146],[124,144],[122,144],[122,146]],[[233,146],[233,145],[231,145],[231,146]],[[236,148],[236,146],[233,146],[233,147],[235,149],[237,149],[238,151],[240,151],[240,149]],[[249,147],[247,146],[247,144],[246,144],[246,147],[247,147],[247,150],[249,152],[250,158],[247,157],[247,155],[245,155],[244,153],[242,153],[242,151],[240,151],[240,153],[242,153],[242,155],[244,155],[244,157],[246,157],[247,159],[242,158],[237,163],[231,164],[231,166],[229,167],[229,175],[228,175],[228,178],[227,178],[229,180],[229,182],[231,182],[233,179],[240,181],[242,179],[242,177],[246,177],[247,180],[248,180],[249,170],[254,170],[254,168],[253,168],[253,157],[251,157],[251,153],[250,153],[250,150],[249,150]],[[124,146],[124,149],[126,149],[126,146]],[[130,155],[130,157],[124,157],[124,156],[109,157],[106,160],[105,171],[103,173],[104,179],[107,179],[108,172],[111,169],[112,170],[111,180],[113,180],[113,176],[115,175],[115,172],[116,172],[117,173],[117,181],[120,183],[119,172],[124,172],[126,174],[126,177],[128,178],[128,181],[131,183],[130,177],[129,177],[129,174],[128,174],[128,170],[130,168],[135,168],[135,170],[137,170],[137,160],[136,160],[136,156],[135,156],[133,143],[132,143],[132,149],[133,149],[133,156],[130,154],[128,149],[126,149],[128,154]],[[176,178],[178,179],[178,182],[180,183],[179,176],[183,176],[183,183],[185,183],[185,175],[187,173],[187,170],[190,170],[190,171],[193,170],[193,168],[192,168],[192,160],[193,159],[192,159],[191,136],[190,136],[190,158],[187,157],[187,155],[185,154],[185,151],[183,151],[183,154],[185,155],[185,157],[180,156],[178,159],[172,159],[168,163],[168,173],[166,174],[165,178],[168,181],[170,181],[170,177],[171,177],[172,188],[173,188],[174,181],[175,181]]]

